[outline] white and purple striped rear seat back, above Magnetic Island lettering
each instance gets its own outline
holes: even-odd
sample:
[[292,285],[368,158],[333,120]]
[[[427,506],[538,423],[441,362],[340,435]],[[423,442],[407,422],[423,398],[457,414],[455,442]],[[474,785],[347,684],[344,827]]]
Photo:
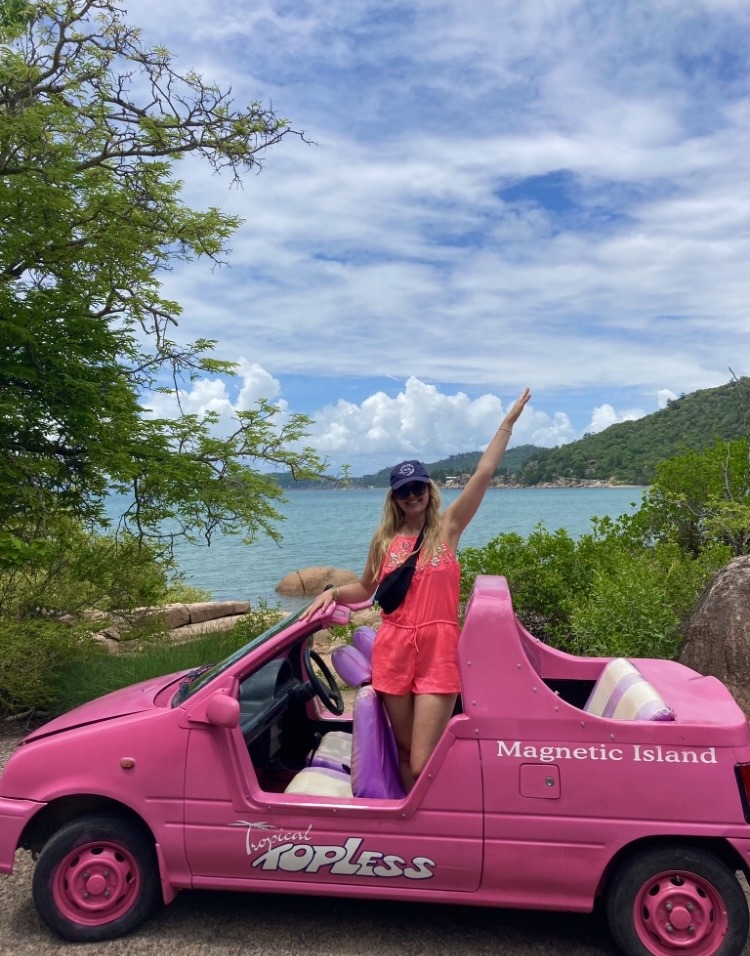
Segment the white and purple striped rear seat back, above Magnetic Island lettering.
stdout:
[[624,657],[611,660],[594,684],[584,710],[611,720],[674,720],[674,711]]

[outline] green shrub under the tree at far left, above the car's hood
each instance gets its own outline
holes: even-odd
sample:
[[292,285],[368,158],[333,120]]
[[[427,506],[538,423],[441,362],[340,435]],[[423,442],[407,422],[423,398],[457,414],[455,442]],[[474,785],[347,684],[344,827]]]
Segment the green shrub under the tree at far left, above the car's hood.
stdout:
[[[46,536],[18,555],[0,565],[0,714],[66,709],[66,680],[77,685],[75,703],[113,689],[95,684],[111,658],[91,639],[103,622],[85,612],[129,611],[187,593],[179,579],[170,584],[170,566],[154,550],[128,535],[89,532],[67,515],[50,516]],[[143,617],[130,637],[163,633],[162,621]]]

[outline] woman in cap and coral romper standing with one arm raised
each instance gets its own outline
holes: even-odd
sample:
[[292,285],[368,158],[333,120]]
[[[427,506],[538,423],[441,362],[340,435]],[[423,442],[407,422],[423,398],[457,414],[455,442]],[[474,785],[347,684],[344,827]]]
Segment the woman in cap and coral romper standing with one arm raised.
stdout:
[[331,601],[345,605],[367,601],[378,582],[408,558],[424,531],[409,590],[399,607],[383,613],[372,658],[372,685],[383,697],[407,790],[435,749],[461,689],[457,652],[459,540],[482,503],[513,425],[530,397],[529,389],[524,389],[474,474],[445,511],[440,511],[440,490],[421,462],[396,465],[362,577],[323,591],[304,612],[310,616]]

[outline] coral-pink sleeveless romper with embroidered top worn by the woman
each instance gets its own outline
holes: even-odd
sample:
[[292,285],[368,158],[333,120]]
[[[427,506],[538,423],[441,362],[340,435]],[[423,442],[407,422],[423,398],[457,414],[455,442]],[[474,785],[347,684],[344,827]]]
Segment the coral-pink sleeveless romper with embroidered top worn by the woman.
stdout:
[[[396,535],[383,566],[382,579],[409,556],[415,537]],[[383,694],[457,694],[458,597],[461,569],[445,544],[422,563],[400,607],[381,613],[372,655],[372,686]]]

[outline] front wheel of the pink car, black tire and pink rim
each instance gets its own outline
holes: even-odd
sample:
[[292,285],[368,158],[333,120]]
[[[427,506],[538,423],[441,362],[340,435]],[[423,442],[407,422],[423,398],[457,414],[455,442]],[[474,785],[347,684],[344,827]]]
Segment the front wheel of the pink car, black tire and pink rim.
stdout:
[[45,844],[32,892],[39,916],[63,939],[91,943],[124,936],[159,899],[153,840],[116,816],[78,817]]

